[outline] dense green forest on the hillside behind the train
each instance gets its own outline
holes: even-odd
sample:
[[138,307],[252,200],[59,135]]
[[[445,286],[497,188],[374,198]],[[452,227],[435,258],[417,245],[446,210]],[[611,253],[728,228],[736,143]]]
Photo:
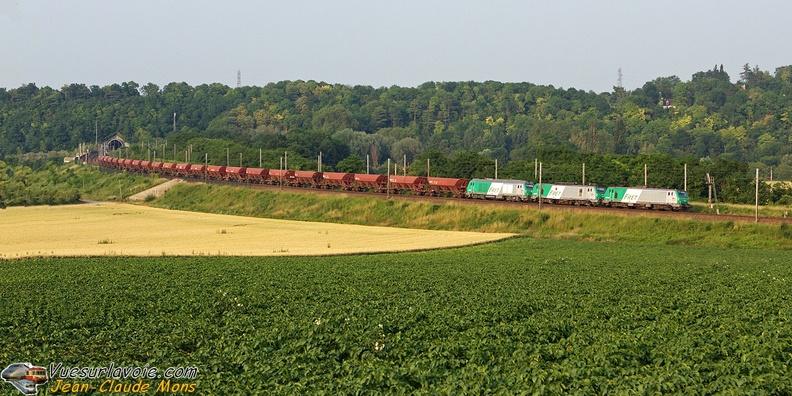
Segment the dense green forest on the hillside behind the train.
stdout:
[[432,158],[435,175],[491,177],[497,159],[502,177],[531,180],[538,159],[551,181],[576,181],[587,162],[587,181],[635,185],[648,162],[649,184],[682,187],[687,164],[693,196],[712,172],[725,183],[723,198],[739,202],[749,199],[754,168],[765,179],[771,168],[776,180],[792,177],[790,112],[792,66],[771,73],[745,65],[736,83],[716,66],[689,81],[661,77],[607,93],[494,81],[28,84],[0,88],[0,156],[14,163],[21,153],[74,150],[118,134],[137,156],[183,160],[192,145],[193,162],[206,155],[224,164],[228,155],[234,164],[241,154],[258,165],[261,150],[266,166],[278,166],[288,151],[290,167],[303,169],[321,151],[325,169],[360,171],[368,155],[382,170],[406,155],[412,173]]

